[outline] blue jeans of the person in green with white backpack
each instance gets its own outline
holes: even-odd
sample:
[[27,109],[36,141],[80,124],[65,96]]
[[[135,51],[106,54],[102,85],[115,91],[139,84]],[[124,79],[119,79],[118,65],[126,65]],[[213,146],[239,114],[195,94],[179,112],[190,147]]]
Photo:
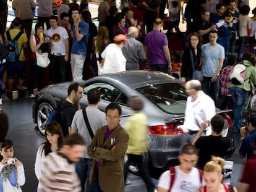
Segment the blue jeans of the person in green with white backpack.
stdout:
[[242,119],[242,111],[248,96],[248,91],[236,86],[231,87],[231,96],[234,101],[234,122],[233,130],[240,130],[240,120]]

